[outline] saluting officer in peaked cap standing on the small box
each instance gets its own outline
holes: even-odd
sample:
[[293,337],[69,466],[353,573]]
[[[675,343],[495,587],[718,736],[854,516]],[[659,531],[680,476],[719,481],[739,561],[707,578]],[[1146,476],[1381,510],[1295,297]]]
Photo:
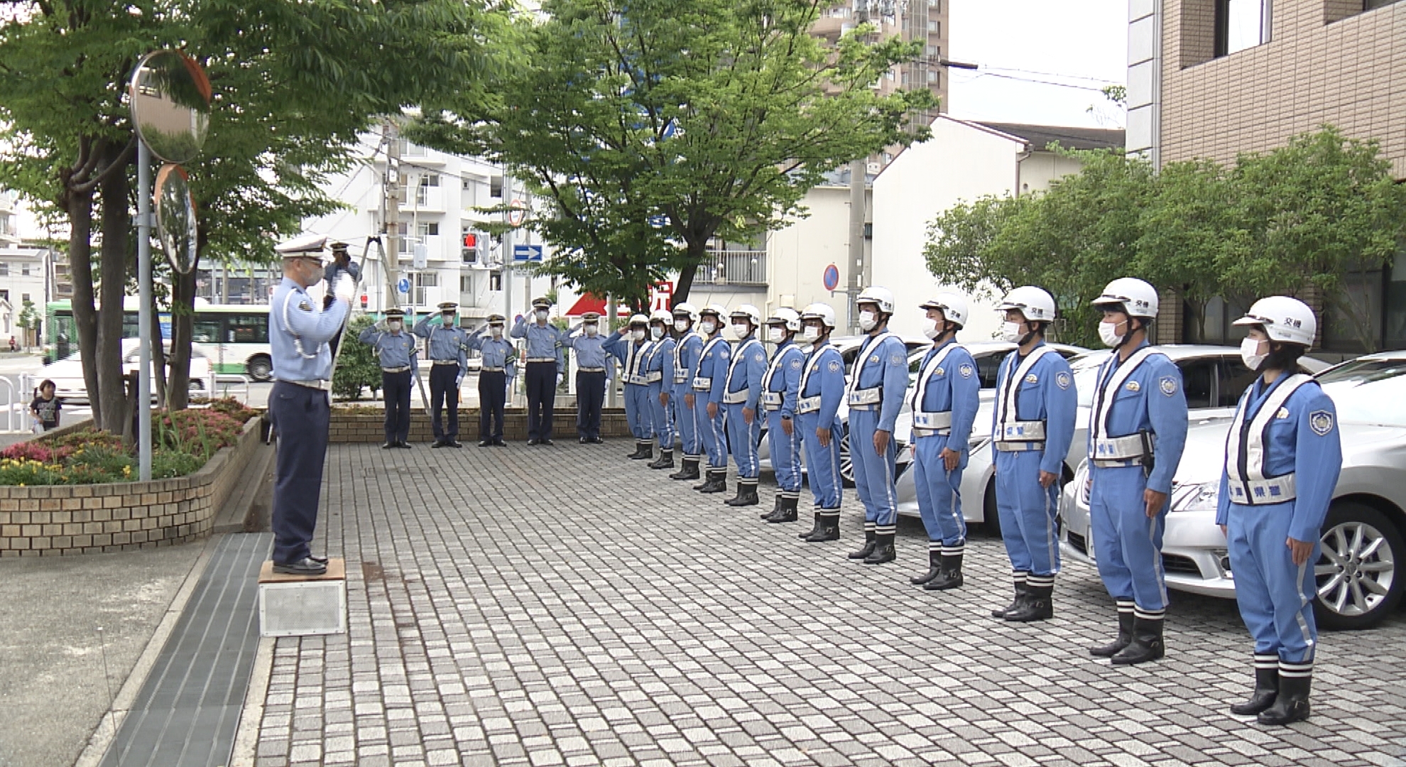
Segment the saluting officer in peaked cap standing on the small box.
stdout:
[[269,346],[273,393],[269,414],[278,432],[273,491],[273,569],[294,576],[321,576],[326,557],[312,556],[318,526],[322,462],[328,453],[332,339],[346,321],[356,293],[350,274],[332,286],[332,303],[319,310],[308,287],[322,280],[322,235],[299,236],[277,248],[283,281],[269,304]]

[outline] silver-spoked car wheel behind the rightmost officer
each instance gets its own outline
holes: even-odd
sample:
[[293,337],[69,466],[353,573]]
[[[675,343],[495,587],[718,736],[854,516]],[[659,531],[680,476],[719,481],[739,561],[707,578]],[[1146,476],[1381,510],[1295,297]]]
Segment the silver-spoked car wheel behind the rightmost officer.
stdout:
[[1323,522],[1322,554],[1313,567],[1317,622],[1329,629],[1382,622],[1402,598],[1402,533],[1385,514],[1364,504],[1336,504]]

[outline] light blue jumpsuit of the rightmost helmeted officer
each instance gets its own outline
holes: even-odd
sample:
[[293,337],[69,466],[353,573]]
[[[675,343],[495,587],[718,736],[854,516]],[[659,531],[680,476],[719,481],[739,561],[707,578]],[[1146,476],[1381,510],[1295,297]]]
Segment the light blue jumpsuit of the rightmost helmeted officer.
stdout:
[[[1239,476],[1249,478],[1246,449],[1251,442],[1256,415],[1289,376],[1279,376],[1265,387],[1264,379],[1240,398],[1239,414],[1244,428],[1232,426],[1229,440],[1239,440]],[[1234,571],[1234,598],[1240,618],[1254,638],[1257,668],[1278,664],[1279,678],[1312,677],[1317,647],[1313,622],[1313,595],[1317,584],[1313,564],[1319,559],[1319,539],[1327,516],[1333,490],[1343,469],[1343,446],[1337,429],[1337,408],[1316,381],[1299,386],[1268,418],[1264,435],[1264,460],[1260,476],[1294,476],[1295,497],[1277,501],[1282,491],[1220,474],[1216,524],[1226,525],[1230,569]],[[1227,456],[1229,466],[1229,456]],[[1282,480],[1281,480],[1282,481]],[[1303,564],[1294,564],[1285,542],[1312,540],[1313,552]]]

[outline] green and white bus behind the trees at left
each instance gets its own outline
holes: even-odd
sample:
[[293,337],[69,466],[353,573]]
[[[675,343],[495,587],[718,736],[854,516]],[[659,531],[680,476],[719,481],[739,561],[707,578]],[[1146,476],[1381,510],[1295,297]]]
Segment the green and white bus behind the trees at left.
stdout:
[[[122,338],[136,338],[136,307],[129,300],[122,311]],[[162,338],[172,336],[172,317],[160,312]],[[44,359],[63,359],[79,348],[73,325],[73,305],[51,301],[45,307]],[[242,374],[256,381],[273,377],[269,356],[267,304],[202,304],[195,305],[193,341],[205,346],[217,374]]]

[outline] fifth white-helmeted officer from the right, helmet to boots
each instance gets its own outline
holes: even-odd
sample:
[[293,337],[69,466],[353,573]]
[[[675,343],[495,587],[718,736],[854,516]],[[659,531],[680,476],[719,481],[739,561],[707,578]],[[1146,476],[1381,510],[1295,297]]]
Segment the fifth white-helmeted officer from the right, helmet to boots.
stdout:
[[893,539],[898,531],[898,491],[894,470],[898,449],[893,425],[908,391],[908,348],[889,332],[893,293],[868,287],[855,300],[859,329],[869,335],[849,374],[849,457],[855,490],[865,504],[865,545],[849,559],[884,564],[896,559]]

